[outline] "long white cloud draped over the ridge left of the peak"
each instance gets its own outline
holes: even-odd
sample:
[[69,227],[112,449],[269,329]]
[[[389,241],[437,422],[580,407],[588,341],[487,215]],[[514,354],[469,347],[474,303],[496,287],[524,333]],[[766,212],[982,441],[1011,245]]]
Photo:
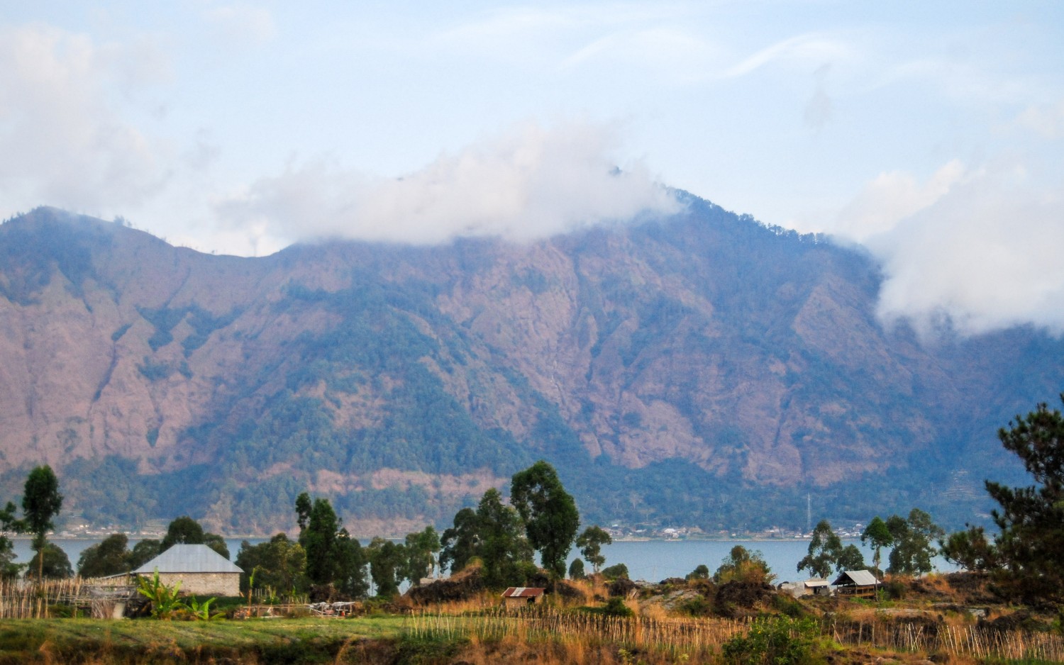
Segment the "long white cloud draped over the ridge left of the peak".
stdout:
[[289,240],[339,236],[432,244],[456,236],[515,240],[670,212],[676,201],[638,164],[616,170],[599,127],[534,123],[442,155],[397,180],[317,161],[220,201],[219,215]]

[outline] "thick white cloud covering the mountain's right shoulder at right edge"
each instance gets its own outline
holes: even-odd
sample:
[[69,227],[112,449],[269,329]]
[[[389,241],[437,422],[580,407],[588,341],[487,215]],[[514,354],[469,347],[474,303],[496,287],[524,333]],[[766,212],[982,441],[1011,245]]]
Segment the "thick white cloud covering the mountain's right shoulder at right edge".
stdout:
[[880,261],[884,320],[924,334],[944,320],[962,334],[1023,323],[1064,333],[1064,199],[1025,171],[951,162],[924,184],[901,172],[869,183],[835,232]]

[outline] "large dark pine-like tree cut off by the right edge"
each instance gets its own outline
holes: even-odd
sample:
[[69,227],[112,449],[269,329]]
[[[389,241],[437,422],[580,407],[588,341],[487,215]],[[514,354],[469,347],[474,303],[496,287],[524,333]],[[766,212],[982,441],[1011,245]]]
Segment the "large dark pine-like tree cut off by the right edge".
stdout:
[[[1064,401],[1064,394],[1061,394]],[[1027,487],[985,482],[998,508],[993,543],[976,527],[953,534],[943,553],[974,569],[993,569],[1002,586],[1028,602],[1064,601],[1064,417],[1040,403],[998,430],[1034,479]]]

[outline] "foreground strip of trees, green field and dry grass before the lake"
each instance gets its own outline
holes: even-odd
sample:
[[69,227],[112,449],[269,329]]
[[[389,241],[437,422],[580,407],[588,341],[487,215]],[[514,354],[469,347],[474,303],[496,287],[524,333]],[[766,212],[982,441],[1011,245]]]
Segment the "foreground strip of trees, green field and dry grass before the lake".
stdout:
[[[36,467],[20,506],[0,512],[6,533],[33,533],[35,551],[15,564],[0,541],[0,664],[1064,661],[1064,417],[1038,404],[999,438],[1036,484],[987,481],[998,533],[946,534],[919,509],[876,516],[862,534],[869,565],[821,520],[796,566],[809,579],[779,585],[741,543],[712,572],[630,580],[624,563],[606,565],[610,534],[579,529],[542,461],[514,475],[509,500],[489,488],[440,534],[430,526],[363,547],[327,499],[303,493],[298,537],[244,542],[233,563],[225,538],[182,516],[132,548],[112,534],[72,577],[47,538],[63,497]],[[566,568],[572,547],[581,558]],[[205,554],[196,575],[167,567],[176,551]],[[936,553],[964,570],[933,573]],[[207,560],[234,576],[233,593],[197,591]]]

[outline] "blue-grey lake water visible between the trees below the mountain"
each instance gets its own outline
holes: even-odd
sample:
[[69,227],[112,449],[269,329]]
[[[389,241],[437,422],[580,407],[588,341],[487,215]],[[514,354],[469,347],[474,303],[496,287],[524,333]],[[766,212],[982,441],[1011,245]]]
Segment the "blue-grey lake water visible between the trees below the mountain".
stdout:
[[[262,543],[265,538],[227,538],[229,552],[233,559],[240,549],[240,542],[247,539],[252,545]],[[70,565],[78,567],[78,559],[85,548],[96,545],[100,541],[96,539],[66,539],[56,538],[52,543],[59,545],[70,559]],[[135,541],[131,542],[131,545]],[[865,561],[871,565],[871,549],[863,547],[859,541],[844,541],[845,544],[857,545],[865,555]],[[798,562],[809,550],[809,541],[801,539],[779,539],[779,541],[624,541],[602,547],[605,555],[605,565],[622,563],[628,566],[629,576],[633,580],[646,580],[658,582],[665,578],[682,578],[694,570],[699,564],[705,564],[710,571],[714,571],[720,566],[720,562],[728,556],[732,547],[742,545],[748,550],[758,550],[765,559],[765,563],[772,572],[776,573],[778,582],[784,580],[804,579],[804,573],[799,575],[795,569]],[[15,553],[19,563],[26,563],[33,556],[30,549],[30,542],[26,539],[15,541]],[[579,553],[573,548],[569,561],[576,559]],[[884,566],[886,564],[886,552],[883,552]],[[934,560],[936,569],[941,571],[955,570],[957,568],[942,558]],[[589,569],[589,568],[588,568]]]

